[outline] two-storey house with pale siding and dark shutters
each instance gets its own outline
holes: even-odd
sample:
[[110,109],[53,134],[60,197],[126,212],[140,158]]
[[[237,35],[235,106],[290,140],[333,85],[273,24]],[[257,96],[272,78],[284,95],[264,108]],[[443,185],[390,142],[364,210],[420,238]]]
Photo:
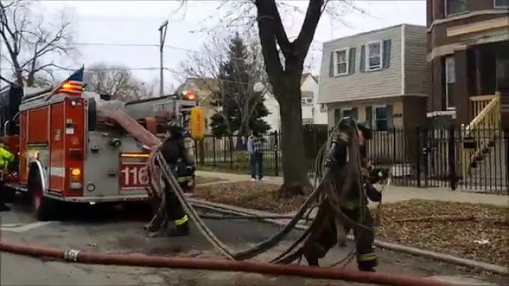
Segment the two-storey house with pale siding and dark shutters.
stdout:
[[329,127],[345,116],[380,132],[425,125],[426,45],[426,27],[409,24],[324,42],[317,103],[327,106]]

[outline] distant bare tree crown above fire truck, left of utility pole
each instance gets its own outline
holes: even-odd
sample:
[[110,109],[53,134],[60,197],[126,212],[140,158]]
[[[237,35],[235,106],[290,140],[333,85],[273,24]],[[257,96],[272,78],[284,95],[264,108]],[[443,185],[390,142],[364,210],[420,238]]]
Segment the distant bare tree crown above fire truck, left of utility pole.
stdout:
[[105,93],[120,101],[149,98],[153,94],[153,86],[136,79],[127,67],[92,64],[85,70],[83,81],[86,91]]

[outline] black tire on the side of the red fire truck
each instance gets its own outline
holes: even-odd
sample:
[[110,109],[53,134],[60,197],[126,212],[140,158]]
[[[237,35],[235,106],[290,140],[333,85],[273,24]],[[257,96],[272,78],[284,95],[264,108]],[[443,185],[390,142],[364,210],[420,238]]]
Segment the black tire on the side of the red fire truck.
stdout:
[[41,222],[54,219],[57,213],[57,201],[45,197],[42,187],[42,176],[37,167],[30,168],[28,173],[28,193],[32,200],[32,210]]

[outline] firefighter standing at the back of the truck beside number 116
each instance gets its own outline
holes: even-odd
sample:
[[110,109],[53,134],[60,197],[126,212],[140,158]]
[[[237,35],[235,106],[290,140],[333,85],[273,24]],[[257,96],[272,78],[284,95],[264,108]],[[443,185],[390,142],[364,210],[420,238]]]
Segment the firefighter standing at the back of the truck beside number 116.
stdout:
[[[189,147],[185,144],[182,127],[176,120],[171,120],[167,125],[168,137],[163,143],[163,157],[166,163],[174,171],[177,176],[177,166],[183,161],[186,165],[194,164],[192,155],[189,155]],[[192,151],[192,147],[191,147]],[[175,229],[172,229],[168,236],[187,236],[189,235],[189,218],[185,213],[180,201],[172,190],[170,183],[165,181],[165,197],[166,197],[166,214],[168,218],[175,222]]]

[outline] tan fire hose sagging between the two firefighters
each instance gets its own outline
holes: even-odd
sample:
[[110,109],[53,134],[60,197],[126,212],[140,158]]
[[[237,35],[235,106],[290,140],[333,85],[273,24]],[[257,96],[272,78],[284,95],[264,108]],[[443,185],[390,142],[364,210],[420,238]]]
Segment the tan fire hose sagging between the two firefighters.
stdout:
[[[353,132],[357,131],[356,127],[353,127],[353,129],[347,130],[351,135],[353,135]],[[341,168],[341,172],[339,173],[339,176],[341,179],[346,182],[341,185],[341,193],[345,193],[348,188],[351,188],[352,185],[357,183],[357,188],[359,189],[359,192],[363,192],[360,188],[360,182],[361,182],[361,171],[360,171],[360,155],[358,152],[358,142],[356,136],[350,136],[349,140],[349,148],[351,149],[351,153],[354,154],[352,156],[353,158],[347,162],[347,167]],[[165,182],[170,184],[171,189],[175,192],[175,195],[177,195],[178,200],[182,204],[182,207],[184,208],[185,212],[188,214],[190,219],[197,225],[197,228],[201,232],[201,234],[204,234],[206,239],[211,242],[211,244],[226,258],[233,259],[233,260],[245,260],[249,258],[253,258],[254,256],[257,256],[261,253],[264,253],[265,251],[269,250],[270,248],[273,248],[279,242],[281,242],[285,236],[289,234],[289,232],[295,227],[298,221],[303,217],[304,213],[308,208],[311,207],[312,204],[315,203],[315,201],[318,199],[318,195],[322,193],[322,195],[325,195],[329,200],[328,204],[331,206],[330,209],[332,212],[341,218],[341,221],[347,224],[351,229],[355,228],[365,228],[368,231],[373,231],[369,227],[366,227],[358,222],[354,222],[349,217],[346,217],[345,214],[343,214],[340,210],[340,202],[337,193],[334,192],[334,190],[337,190],[337,188],[334,188],[334,185],[332,185],[332,180],[330,180],[329,172],[325,171],[324,173],[324,179],[320,180],[320,183],[318,183],[315,190],[311,193],[311,195],[308,197],[308,199],[303,203],[303,205],[299,208],[297,214],[291,222],[286,224],[286,227],[282,231],[280,231],[278,234],[274,235],[271,239],[268,239],[267,241],[263,241],[262,243],[258,244],[257,246],[254,246],[253,248],[247,249],[245,251],[240,251],[238,253],[233,253],[228,246],[223,244],[222,241],[219,241],[219,239],[212,233],[212,231],[206,227],[202,219],[197,214],[196,210],[194,210],[194,207],[187,202],[185,199],[185,196],[183,195],[183,191],[180,188],[180,185],[177,182],[177,179],[175,178],[172,169],[168,164],[166,164],[162,154],[160,153],[160,147],[162,145],[159,144],[158,146],[154,147],[151,151],[151,155],[148,159],[148,171],[151,176],[151,186],[152,186],[152,195],[154,197],[160,196],[161,197],[161,203],[160,203],[160,209],[158,210],[158,213],[153,218],[150,225],[153,224],[153,222],[157,221],[157,217],[162,216],[163,213],[165,213],[163,210],[165,210],[165,193],[162,191],[162,188],[160,186],[160,177],[157,175],[161,173],[163,177],[165,178]],[[324,148],[321,149],[323,151]],[[319,154],[320,155],[320,154]],[[321,156],[321,155],[320,155]],[[322,166],[322,164],[319,164],[318,166]],[[352,178],[356,178],[357,180],[353,180]],[[329,185],[326,185],[327,182]],[[324,189],[323,189],[324,188]],[[321,190],[319,193],[318,191]],[[362,198],[362,195],[361,195]],[[320,203],[320,205],[323,205]],[[361,208],[365,207],[363,204],[361,204]],[[362,218],[361,218],[362,219]],[[309,230],[305,231],[305,234],[300,236],[300,238],[294,243],[290,248],[288,248],[287,251],[282,253],[277,258],[274,258],[271,262],[272,263],[291,263],[295,261],[296,259],[302,257],[302,250],[304,246],[301,246],[298,248],[297,251],[293,251],[294,248],[296,248],[301,242],[308,241],[309,234],[312,233],[312,231],[322,231],[324,229],[324,222],[320,219],[314,219]],[[342,227],[341,227],[342,229]],[[352,256],[353,251],[349,254],[349,257]],[[347,257],[348,258],[348,257]],[[345,258],[346,259],[346,258]],[[341,261],[340,261],[341,262]],[[337,265],[338,263],[335,263]]]

